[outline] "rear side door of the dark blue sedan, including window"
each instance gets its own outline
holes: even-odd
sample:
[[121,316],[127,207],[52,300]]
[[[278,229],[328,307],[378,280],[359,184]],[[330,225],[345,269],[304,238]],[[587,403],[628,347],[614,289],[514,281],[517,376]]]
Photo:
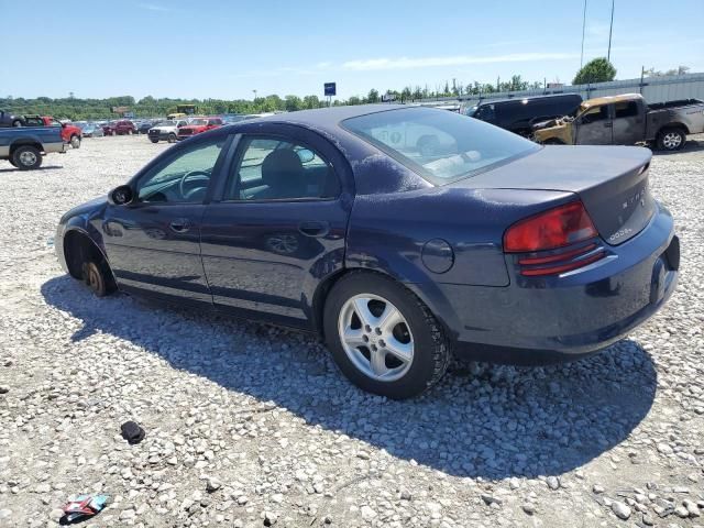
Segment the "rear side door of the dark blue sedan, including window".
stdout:
[[343,266],[351,173],[310,131],[256,130],[238,135],[220,199],[206,209],[204,268],[216,307],[307,327],[316,287]]

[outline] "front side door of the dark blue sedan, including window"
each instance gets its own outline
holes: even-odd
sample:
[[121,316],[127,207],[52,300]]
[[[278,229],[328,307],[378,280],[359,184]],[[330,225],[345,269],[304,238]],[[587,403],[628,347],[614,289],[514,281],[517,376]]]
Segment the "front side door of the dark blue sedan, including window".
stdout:
[[200,222],[227,136],[167,151],[130,184],[134,199],[109,205],[102,234],[120,288],[212,304],[200,260]]

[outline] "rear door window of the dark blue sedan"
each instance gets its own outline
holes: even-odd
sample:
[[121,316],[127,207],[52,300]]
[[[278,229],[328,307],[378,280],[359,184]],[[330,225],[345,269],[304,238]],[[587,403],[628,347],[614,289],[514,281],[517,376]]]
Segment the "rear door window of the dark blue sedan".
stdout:
[[244,138],[226,200],[326,199],[340,194],[332,165],[314,150],[279,138]]

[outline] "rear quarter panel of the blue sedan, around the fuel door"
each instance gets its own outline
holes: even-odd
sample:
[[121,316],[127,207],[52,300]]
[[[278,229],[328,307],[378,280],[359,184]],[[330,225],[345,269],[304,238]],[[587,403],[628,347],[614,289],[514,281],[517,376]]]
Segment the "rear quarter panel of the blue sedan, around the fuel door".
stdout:
[[[453,187],[358,196],[350,218],[345,266],[383,273],[404,283],[458,334],[462,324],[443,293],[444,285],[505,289],[510,283],[502,248],[506,228],[573,196]],[[444,273],[435,273],[424,263],[424,246],[436,239],[452,248],[451,267]]]

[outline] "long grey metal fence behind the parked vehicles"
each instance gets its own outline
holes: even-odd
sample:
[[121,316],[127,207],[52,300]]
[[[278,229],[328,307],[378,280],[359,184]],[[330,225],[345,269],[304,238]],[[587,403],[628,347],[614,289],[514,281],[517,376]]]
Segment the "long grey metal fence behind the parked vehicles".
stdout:
[[619,94],[642,94],[648,102],[664,102],[674,99],[704,99],[704,73],[668,75],[662,77],[644,77],[642,79],[612,80],[594,82],[593,85],[563,86],[559,88],[543,88],[537,90],[498,91],[475,96],[440,97],[424,99],[421,105],[459,103],[461,106],[476,105],[480,101],[493,99],[510,99],[549,94],[579,94],[583,99],[602,96],[617,96]]

